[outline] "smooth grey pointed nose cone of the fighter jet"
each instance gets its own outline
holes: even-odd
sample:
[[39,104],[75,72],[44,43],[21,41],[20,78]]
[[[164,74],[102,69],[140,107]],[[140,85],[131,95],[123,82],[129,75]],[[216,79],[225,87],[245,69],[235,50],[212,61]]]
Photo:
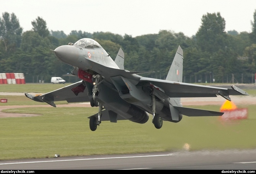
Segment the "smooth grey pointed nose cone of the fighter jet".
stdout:
[[77,48],[72,45],[62,45],[54,50],[54,54],[60,61],[64,63],[67,63],[71,66],[77,64]]

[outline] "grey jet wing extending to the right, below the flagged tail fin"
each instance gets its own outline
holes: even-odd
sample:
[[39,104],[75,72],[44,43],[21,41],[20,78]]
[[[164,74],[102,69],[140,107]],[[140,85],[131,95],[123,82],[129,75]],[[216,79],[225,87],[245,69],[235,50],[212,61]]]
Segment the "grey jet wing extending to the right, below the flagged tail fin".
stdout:
[[217,97],[217,95],[221,95],[225,99],[231,101],[229,95],[249,95],[247,92],[234,85],[231,85],[231,89],[227,89],[147,77],[142,77],[140,81],[150,82],[150,84],[154,85],[156,88],[158,87],[160,90],[163,90],[169,97]]

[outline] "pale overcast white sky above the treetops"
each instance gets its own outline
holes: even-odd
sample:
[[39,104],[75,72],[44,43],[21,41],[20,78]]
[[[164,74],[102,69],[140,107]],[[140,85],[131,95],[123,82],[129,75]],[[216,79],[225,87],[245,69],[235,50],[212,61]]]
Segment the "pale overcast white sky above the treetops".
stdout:
[[40,17],[49,31],[111,32],[136,37],[161,30],[191,37],[202,16],[218,13],[225,31],[251,32],[256,0],[1,0],[0,18],[14,13],[24,31]]

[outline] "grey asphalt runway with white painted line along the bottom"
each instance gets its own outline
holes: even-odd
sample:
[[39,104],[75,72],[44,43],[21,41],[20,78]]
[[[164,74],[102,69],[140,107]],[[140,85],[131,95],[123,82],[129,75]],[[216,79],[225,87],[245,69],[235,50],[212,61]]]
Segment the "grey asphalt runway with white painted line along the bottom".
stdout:
[[256,170],[256,150],[181,151],[0,161],[1,170]]

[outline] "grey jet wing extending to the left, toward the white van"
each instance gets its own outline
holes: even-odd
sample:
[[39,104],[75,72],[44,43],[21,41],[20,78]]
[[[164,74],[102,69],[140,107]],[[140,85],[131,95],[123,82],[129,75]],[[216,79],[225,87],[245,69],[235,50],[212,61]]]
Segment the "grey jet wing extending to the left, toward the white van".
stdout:
[[42,95],[33,96],[29,93],[25,93],[25,95],[34,101],[46,102],[54,107],[56,107],[54,101],[67,101],[68,103],[90,101],[88,90],[83,81],[76,82]]

